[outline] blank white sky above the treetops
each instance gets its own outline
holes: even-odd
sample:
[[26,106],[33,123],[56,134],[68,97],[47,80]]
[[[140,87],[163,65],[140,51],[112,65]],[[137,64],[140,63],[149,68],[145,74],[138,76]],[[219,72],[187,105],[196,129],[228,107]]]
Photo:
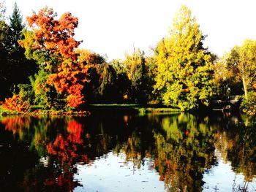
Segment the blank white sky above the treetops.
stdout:
[[79,20],[75,39],[83,40],[80,47],[108,55],[109,60],[124,58],[133,47],[150,54],[167,36],[181,4],[192,10],[207,35],[204,46],[219,56],[246,38],[256,39],[255,0],[5,0],[6,15],[15,1],[24,22],[45,6],[59,16],[71,12]]

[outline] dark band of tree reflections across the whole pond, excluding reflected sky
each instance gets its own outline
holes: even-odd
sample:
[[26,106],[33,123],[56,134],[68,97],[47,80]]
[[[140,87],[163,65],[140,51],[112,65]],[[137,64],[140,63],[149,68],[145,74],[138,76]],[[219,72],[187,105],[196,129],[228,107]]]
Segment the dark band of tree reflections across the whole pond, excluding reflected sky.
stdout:
[[126,164],[132,161],[134,172],[145,159],[154,161],[148,169],[157,170],[167,191],[203,191],[203,174],[217,166],[216,150],[249,183],[256,174],[255,126],[232,118],[188,113],[0,118],[0,185],[6,191],[73,191],[80,185],[74,180],[76,164],[92,164],[110,150],[124,154]]

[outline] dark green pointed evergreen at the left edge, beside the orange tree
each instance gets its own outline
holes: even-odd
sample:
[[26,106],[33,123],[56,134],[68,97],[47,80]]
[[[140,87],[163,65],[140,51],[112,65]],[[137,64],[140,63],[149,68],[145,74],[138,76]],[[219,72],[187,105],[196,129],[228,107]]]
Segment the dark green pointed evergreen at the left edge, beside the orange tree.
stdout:
[[23,39],[24,24],[20,10],[15,3],[10,25],[0,21],[0,99],[10,96],[15,91],[15,85],[28,83],[29,75],[37,72],[34,61],[29,61],[24,55],[24,49],[18,44]]

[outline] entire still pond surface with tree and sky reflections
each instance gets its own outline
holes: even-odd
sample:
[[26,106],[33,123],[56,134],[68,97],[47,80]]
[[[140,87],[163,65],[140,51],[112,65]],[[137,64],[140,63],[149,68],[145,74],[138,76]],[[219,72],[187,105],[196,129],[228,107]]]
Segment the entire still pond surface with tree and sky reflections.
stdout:
[[1,117],[0,191],[255,191],[240,115]]

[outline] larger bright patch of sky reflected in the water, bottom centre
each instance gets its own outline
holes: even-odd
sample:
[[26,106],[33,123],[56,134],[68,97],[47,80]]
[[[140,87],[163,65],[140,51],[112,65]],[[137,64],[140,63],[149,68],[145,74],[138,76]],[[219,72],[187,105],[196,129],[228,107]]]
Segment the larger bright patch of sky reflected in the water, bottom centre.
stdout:
[[124,153],[108,153],[91,165],[77,165],[75,180],[80,181],[74,191],[165,191],[165,183],[151,169],[152,161],[145,159],[140,169],[129,161],[124,163]]

